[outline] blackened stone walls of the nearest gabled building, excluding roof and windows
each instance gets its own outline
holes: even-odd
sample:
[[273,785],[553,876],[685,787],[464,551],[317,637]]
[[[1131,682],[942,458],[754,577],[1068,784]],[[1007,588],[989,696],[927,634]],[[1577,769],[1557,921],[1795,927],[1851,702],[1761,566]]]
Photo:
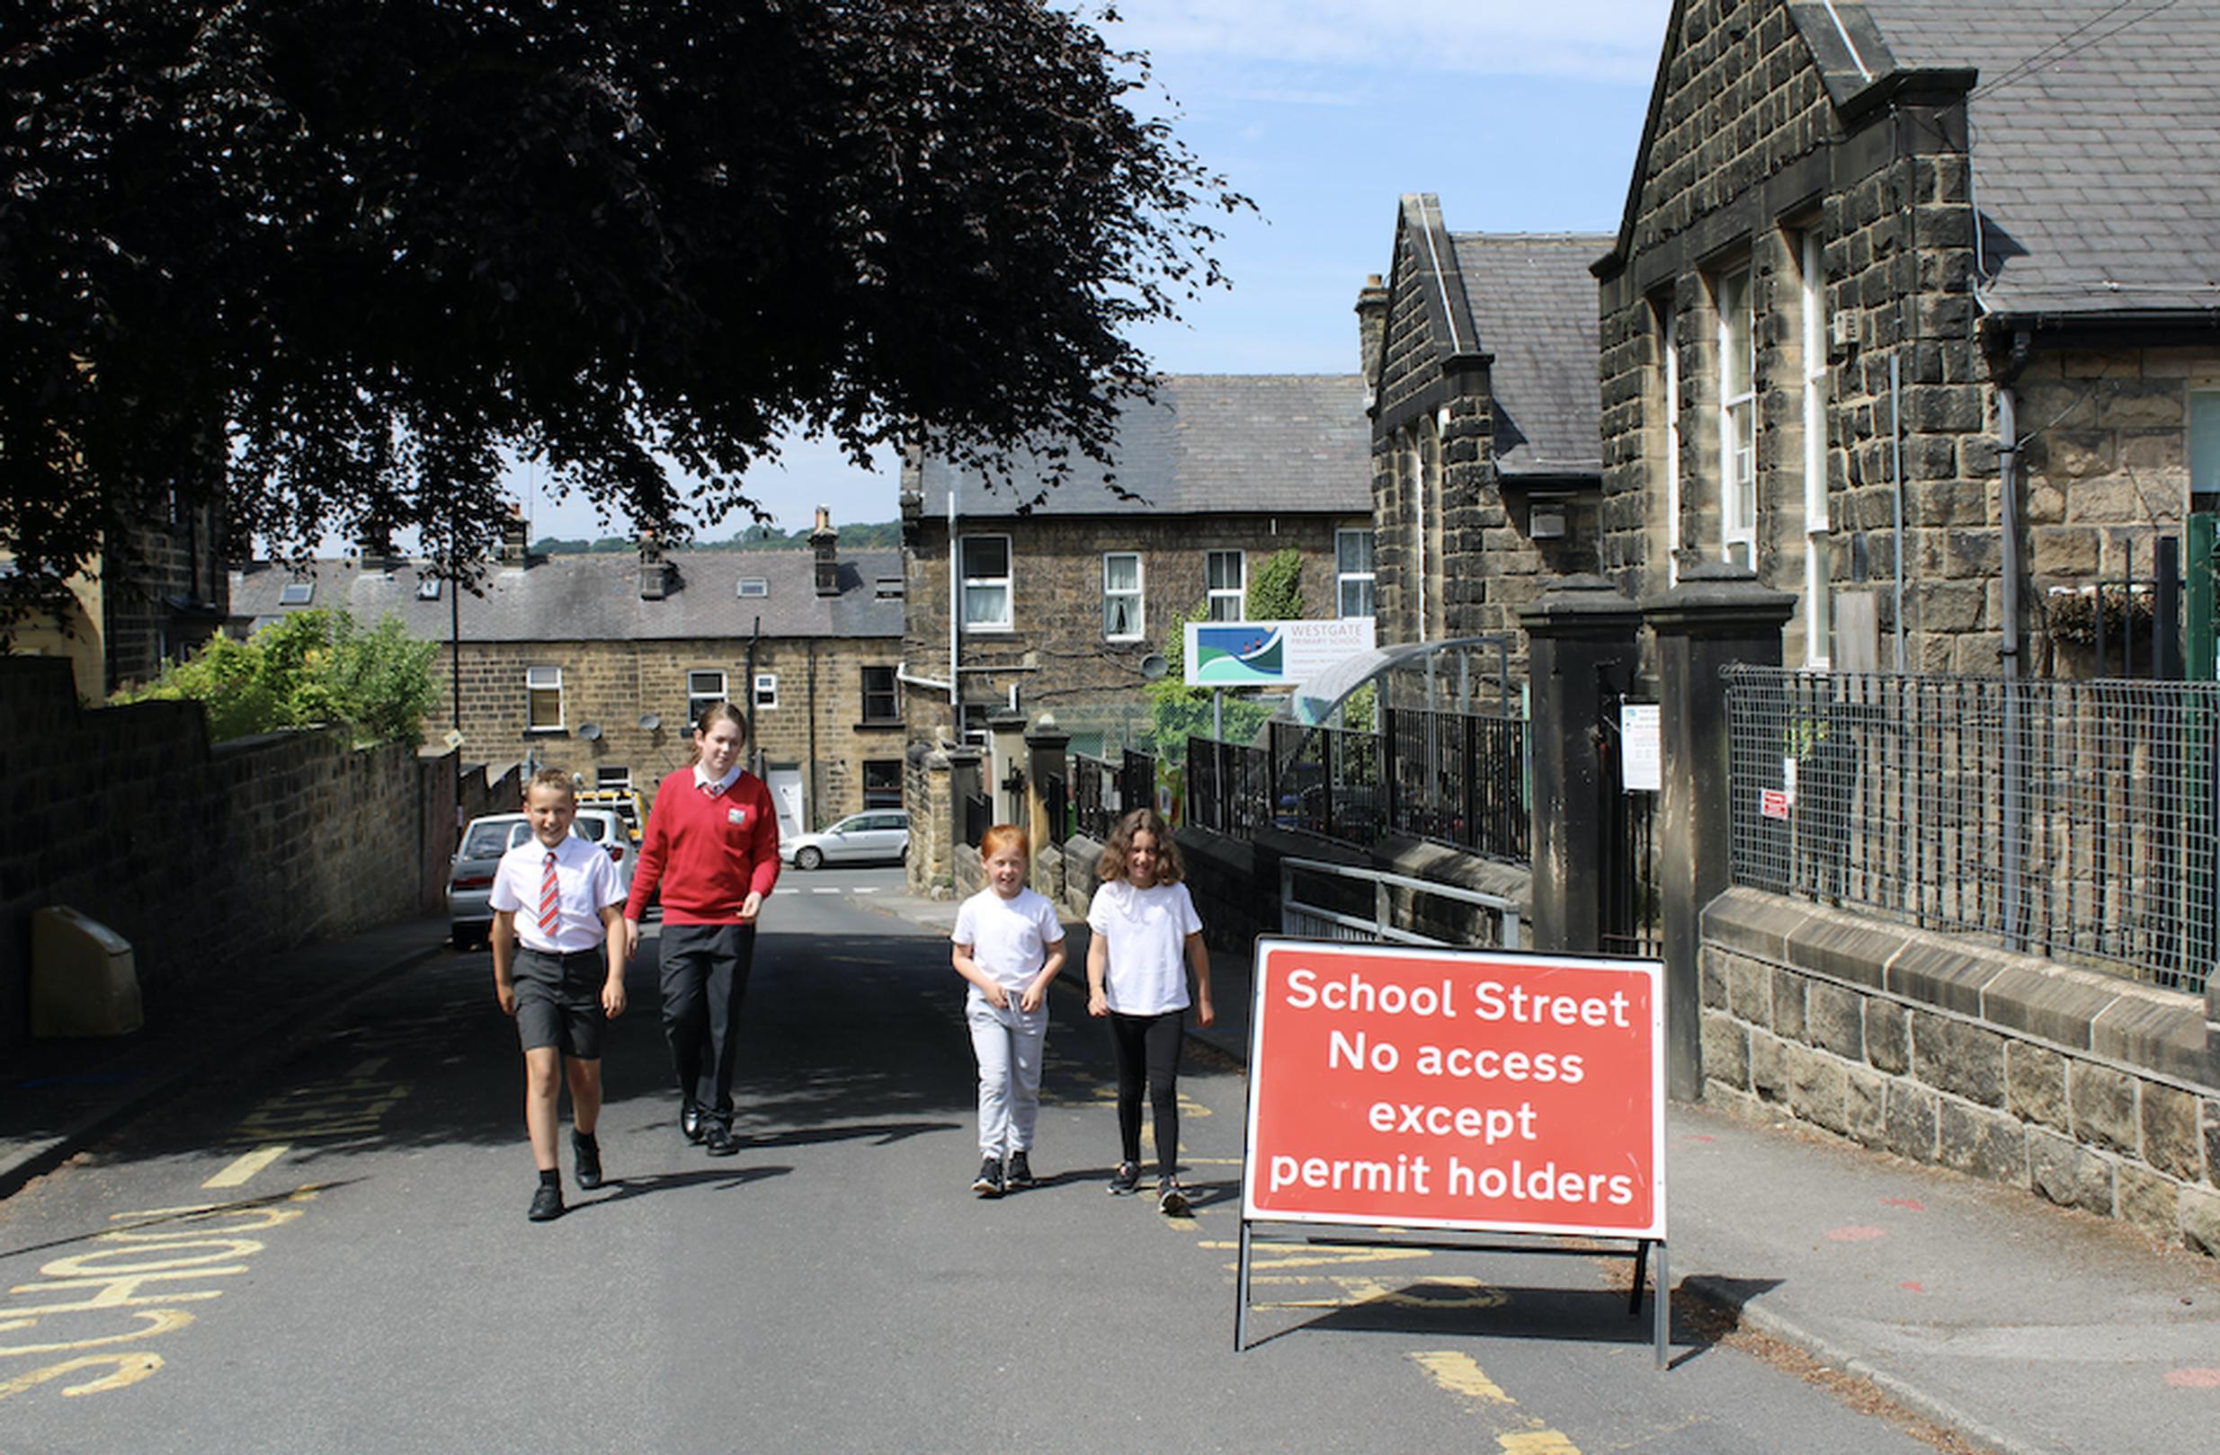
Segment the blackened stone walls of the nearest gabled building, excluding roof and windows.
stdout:
[[[2018,368],[2018,430],[2029,439],[2020,630],[2034,670],[2093,672],[2091,654],[2058,639],[2051,617],[2069,610],[2060,597],[2098,579],[2131,566],[2151,574],[2151,541],[2173,535],[2189,506],[2189,388],[2220,379],[2220,344],[2087,353],[2036,335],[2025,362],[1998,353],[2009,339],[1985,339],[1974,304],[1980,140],[1969,138],[1965,82],[1929,75],[1889,106],[1849,113],[1829,100],[1787,4],[1692,0],[1681,24],[1667,38],[1627,246],[1601,288],[1605,572],[1634,599],[1667,588],[1672,421],[1683,559],[1721,557],[1716,286],[1747,264],[1754,568],[1760,583],[1798,599],[1783,659],[1840,648],[1805,645],[1807,561],[1816,561],[1834,599],[1871,597],[1891,665],[1900,563],[1905,668],[1998,670],[2007,610],[1998,388]],[[1823,271],[1823,521],[1805,506],[1805,235],[1818,237]],[[1678,346],[1672,399],[1667,315]]]

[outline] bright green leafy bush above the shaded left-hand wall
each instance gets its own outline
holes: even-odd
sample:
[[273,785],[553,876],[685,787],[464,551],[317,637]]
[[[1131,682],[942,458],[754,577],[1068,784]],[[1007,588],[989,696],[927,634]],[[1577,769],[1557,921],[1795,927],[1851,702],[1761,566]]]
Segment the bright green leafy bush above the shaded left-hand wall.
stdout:
[[297,612],[246,641],[211,639],[189,661],[120,703],[184,699],[209,710],[213,741],[278,727],[346,723],[357,743],[424,741],[440,699],[431,663],[440,643],[415,641],[397,617],[371,630],[346,612]]

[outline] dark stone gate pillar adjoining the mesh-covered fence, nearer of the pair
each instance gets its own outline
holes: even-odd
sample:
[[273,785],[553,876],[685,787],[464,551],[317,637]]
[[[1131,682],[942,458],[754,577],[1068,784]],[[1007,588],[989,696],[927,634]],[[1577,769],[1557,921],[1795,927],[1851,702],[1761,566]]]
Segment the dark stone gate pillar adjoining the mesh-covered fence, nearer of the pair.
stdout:
[[1665,938],[1665,1089],[1703,1096],[1703,907],[1732,878],[1727,683],[1721,668],[1780,665],[1780,628],[1796,597],[1754,572],[1705,561],[1643,601],[1658,648],[1658,889]]

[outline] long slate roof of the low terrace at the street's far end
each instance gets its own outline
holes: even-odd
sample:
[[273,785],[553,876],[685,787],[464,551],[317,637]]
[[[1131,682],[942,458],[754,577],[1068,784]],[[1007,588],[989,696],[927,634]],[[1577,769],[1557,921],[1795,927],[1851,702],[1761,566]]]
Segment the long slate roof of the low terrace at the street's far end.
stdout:
[[[879,599],[879,579],[901,579],[901,554],[861,550],[839,559],[839,597],[817,594],[810,550],[670,550],[677,568],[662,601],[639,599],[635,552],[535,557],[524,570],[486,563],[477,597],[462,594],[464,641],[677,641],[748,637],[761,617],[764,637],[901,637],[901,597]],[[313,561],[306,603],[284,606],[286,566],[255,563],[231,577],[231,614],[264,625],[286,612],[346,608],[373,625],[402,619],[411,637],[446,641],[448,586],[420,599],[426,570],[402,561],[391,572],[362,570],[355,559]],[[761,597],[741,597],[741,577],[761,579]]]

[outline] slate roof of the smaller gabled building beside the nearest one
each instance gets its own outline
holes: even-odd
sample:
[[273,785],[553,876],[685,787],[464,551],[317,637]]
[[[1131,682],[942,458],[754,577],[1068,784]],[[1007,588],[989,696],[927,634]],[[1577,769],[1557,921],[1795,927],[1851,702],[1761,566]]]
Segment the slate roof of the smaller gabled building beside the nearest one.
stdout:
[[1496,470],[1601,475],[1596,277],[1607,233],[1450,233],[1479,353],[1492,353]]

